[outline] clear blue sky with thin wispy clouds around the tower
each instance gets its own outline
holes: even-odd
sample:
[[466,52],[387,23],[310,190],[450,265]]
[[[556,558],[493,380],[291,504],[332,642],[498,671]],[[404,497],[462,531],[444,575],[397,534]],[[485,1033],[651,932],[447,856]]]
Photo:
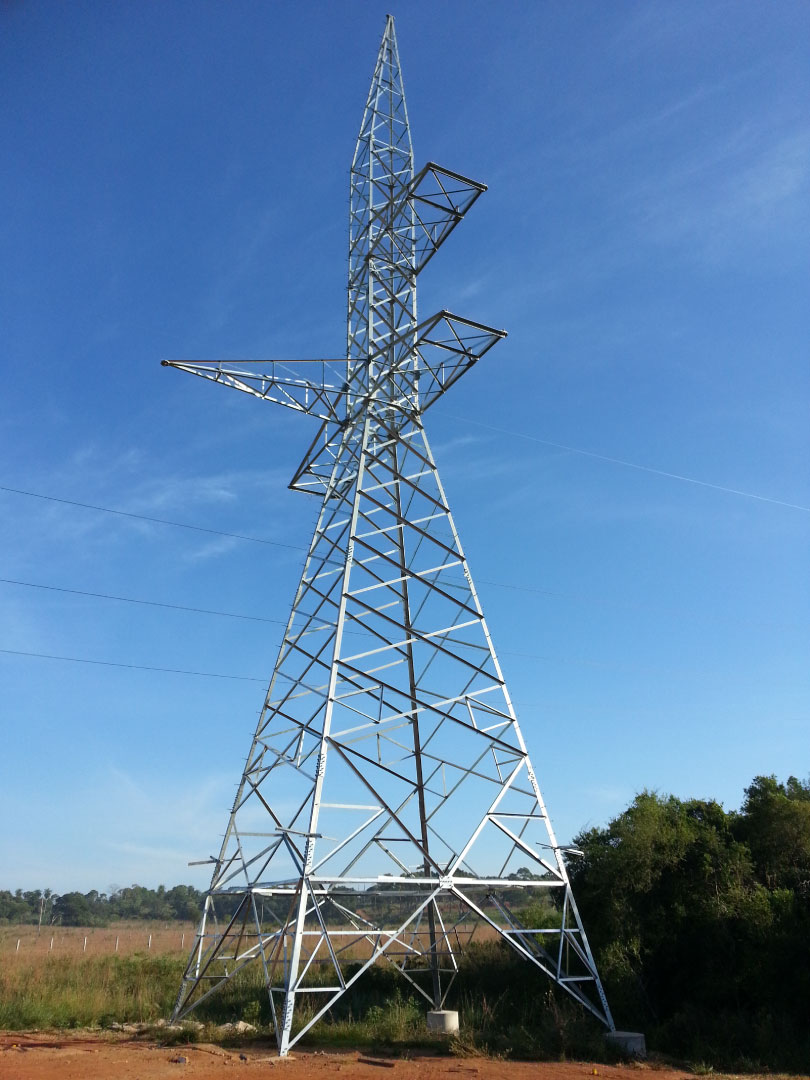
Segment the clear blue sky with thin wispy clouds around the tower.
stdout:
[[[159,362],[342,352],[389,6],[3,8],[0,887],[204,885],[314,432]],[[393,13],[417,164],[489,185],[420,311],[510,336],[428,431],[557,835],[807,777],[810,8]]]

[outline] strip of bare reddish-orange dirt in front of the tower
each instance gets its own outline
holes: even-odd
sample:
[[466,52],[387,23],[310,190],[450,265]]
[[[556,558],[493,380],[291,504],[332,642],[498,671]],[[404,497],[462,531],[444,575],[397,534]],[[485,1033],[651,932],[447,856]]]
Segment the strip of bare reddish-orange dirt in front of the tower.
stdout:
[[499,1062],[485,1057],[376,1057],[362,1053],[292,1053],[274,1048],[245,1051],[199,1043],[163,1047],[158,1042],[93,1032],[2,1032],[0,1078],[8,1080],[693,1080],[689,1074],[656,1065]]

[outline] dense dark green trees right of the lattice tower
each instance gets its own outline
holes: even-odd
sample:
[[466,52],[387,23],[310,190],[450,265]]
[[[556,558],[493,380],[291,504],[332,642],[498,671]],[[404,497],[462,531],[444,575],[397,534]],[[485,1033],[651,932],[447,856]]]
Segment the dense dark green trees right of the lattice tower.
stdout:
[[575,895],[620,1027],[692,1061],[810,1064],[810,782],[739,811],[644,792],[575,840]]

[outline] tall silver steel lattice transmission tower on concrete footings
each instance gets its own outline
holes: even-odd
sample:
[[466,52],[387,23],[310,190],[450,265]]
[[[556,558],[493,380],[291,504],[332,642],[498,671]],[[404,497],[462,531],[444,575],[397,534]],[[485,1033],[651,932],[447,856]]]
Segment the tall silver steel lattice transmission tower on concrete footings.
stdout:
[[282,1055],[377,961],[441,1009],[481,927],[613,1027],[422,427],[505,336],[417,319],[419,270],[484,190],[414,174],[389,16],[351,168],[347,356],[164,361],[322,421],[291,484],[320,515],[174,1013],[261,964]]

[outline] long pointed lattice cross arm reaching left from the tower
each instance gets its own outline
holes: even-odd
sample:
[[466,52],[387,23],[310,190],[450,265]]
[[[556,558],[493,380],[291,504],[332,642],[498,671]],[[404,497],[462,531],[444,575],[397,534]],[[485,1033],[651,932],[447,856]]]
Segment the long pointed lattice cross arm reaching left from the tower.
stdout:
[[345,415],[348,392],[345,359],[241,361],[238,368],[176,360],[162,360],[161,364],[321,420],[340,420]]

